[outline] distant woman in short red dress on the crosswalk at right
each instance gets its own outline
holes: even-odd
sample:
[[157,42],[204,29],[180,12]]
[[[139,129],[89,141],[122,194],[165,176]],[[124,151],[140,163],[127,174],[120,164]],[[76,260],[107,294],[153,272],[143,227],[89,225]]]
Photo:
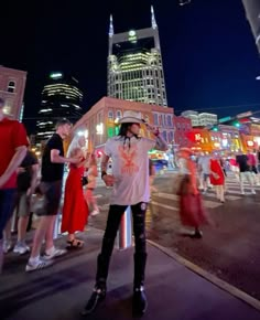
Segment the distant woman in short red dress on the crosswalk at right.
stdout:
[[210,171],[209,174],[210,183],[216,185],[217,199],[220,200],[221,203],[225,202],[224,192],[225,192],[225,174],[220,164],[220,161],[217,159],[217,156],[214,154],[210,159]]

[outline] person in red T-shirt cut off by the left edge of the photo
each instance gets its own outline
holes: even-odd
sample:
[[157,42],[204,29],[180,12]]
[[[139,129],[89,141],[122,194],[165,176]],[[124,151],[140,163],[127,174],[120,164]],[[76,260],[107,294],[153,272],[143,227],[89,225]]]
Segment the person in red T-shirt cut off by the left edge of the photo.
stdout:
[[3,264],[3,230],[10,220],[17,195],[17,170],[26,154],[28,138],[22,124],[3,114],[0,98],[0,273]]

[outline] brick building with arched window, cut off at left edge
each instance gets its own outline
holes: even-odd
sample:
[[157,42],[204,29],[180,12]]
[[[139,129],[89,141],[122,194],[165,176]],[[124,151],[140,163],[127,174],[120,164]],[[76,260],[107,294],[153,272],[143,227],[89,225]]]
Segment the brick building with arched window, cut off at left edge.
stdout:
[[26,83],[26,72],[0,65],[0,97],[4,99],[4,114],[17,120],[22,120],[23,95]]

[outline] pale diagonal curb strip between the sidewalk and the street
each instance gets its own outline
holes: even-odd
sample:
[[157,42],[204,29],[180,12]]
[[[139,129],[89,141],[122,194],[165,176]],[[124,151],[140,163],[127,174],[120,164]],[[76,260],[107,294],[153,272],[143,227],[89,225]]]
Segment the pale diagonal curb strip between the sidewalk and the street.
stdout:
[[167,249],[150,239],[147,241],[152,246],[156,247],[158,249],[162,250],[164,254],[170,256],[171,258],[175,259],[177,263],[184,265],[189,270],[194,271],[195,274],[199,275],[201,277],[205,278],[209,282],[214,284],[215,286],[219,287],[224,291],[227,291],[228,294],[232,295],[234,297],[242,300],[243,302],[250,305],[258,311],[260,311],[260,300],[251,297],[250,295],[246,294],[245,291],[234,287],[232,285],[219,279],[218,277],[214,276],[213,274],[204,270],[199,266],[188,262],[184,257],[180,256],[178,254],[172,252],[171,249]]

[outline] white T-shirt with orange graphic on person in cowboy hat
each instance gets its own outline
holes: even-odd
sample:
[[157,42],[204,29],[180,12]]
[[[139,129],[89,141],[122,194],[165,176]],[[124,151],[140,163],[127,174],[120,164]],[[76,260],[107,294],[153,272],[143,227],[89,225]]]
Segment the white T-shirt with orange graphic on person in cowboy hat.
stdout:
[[148,138],[113,137],[106,142],[105,153],[112,159],[115,177],[111,204],[131,205],[149,202],[148,151],[155,141]]

